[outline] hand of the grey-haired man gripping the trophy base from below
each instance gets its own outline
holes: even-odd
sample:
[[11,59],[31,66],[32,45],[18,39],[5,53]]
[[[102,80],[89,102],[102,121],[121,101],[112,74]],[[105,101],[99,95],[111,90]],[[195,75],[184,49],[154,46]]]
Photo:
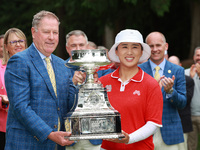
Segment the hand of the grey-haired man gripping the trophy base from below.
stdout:
[[57,132],[51,132],[48,136],[48,139],[54,141],[55,143],[66,146],[71,145],[74,143],[74,141],[70,141],[69,139],[65,138],[65,136],[70,136],[70,132],[64,132],[64,131],[57,131]]

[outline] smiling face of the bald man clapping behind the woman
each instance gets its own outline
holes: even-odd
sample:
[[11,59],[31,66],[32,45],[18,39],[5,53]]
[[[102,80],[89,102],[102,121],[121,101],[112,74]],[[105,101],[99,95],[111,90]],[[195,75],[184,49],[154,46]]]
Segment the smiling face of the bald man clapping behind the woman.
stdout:
[[168,44],[164,42],[163,37],[159,33],[151,33],[147,38],[147,44],[151,48],[151,61],[159,65],[164,60]]

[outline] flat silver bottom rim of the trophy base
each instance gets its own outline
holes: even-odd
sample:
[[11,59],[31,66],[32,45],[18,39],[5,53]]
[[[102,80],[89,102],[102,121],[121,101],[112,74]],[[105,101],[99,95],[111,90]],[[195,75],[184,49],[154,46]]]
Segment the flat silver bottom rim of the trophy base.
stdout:
[[77,140],[95,140],[95,139],[121,139],[124,138],[125,136],[123,134],[92,134],[92,135],[72,135],[70,137],[65,137],[66,139],[69,139],[70,141],[77,141]]

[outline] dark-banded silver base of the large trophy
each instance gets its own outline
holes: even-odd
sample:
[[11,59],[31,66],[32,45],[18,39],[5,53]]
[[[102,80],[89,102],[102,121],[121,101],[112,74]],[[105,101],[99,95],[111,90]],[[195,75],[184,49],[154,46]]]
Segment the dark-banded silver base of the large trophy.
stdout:
[[107,109],[76,110],[65,120],[69,140],[124,138],[118,111]]

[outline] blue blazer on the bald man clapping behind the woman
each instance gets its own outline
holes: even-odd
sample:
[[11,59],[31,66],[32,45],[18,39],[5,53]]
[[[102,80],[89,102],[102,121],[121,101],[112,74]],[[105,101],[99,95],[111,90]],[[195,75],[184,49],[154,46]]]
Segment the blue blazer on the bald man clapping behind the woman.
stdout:
[[[138,66],[153,77],[149,61]],[[163,94],[163,127],[160,128],[161,135],[165,144],[178,144],[184,141],[183,129],[178,113],[178,109],[183,109],[187,103],[184,68],[166,61],[163,75],[170,78],[174,75],[175,80],[173,86],[174,91],[170,98],[166,98],[164,88],[161,89]]]

